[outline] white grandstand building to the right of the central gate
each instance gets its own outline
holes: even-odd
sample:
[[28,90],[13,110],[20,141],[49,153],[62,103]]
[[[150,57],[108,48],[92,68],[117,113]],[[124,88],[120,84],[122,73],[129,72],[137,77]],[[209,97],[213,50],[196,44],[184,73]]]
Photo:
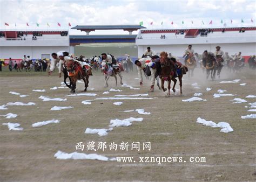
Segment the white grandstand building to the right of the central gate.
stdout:
[[[184,34],[181,34],[181,29],[140,30],[136,38],[138,57],[142,57],[148,46],[156,54],[165,51],[182,57],[190,44],[198,54],[202,54],[205,50],[214,53],[216,46],[220,46],[221,50],[230,55],[238,52],[242,52],[244,56],[256,54],[256,27],[245,27],[244,32],[241,29],[242,27],[211,28],[207,36],[201,36],[201,29],[183,29]],[[161,36],[165,38],[161,39]]]

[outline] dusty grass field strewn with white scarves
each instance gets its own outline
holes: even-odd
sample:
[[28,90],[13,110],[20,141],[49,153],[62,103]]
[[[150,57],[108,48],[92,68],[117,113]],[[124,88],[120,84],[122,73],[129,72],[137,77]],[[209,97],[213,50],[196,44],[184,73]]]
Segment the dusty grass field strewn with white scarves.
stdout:
[[[36,106],[8,106],[8,110],[0,110],[0,114],[14,113],[18,117],[5,119],[0,116],[0,181],[80,181],[80,180],[256,180],[255,160],[255,119],[241,119],[241,116],[252,114],[248,112],[248,103],[255,99],[246,99],[247,103],[232,104],[234,96],[213,98],[218,89],[225,89],[227,93],[237,94],[245,99],[247,95],[255,95],[255,71],[245,69],[242,73],[222,73],[221,79],[206,81],[205,75],[199,68],[193,78],[184,76],[183,95],[171,95],[156,88],[148,97],[152,100],[122,100],[122,106],[114,106],[116,100],[93,100],[98,97],[111,97],[116,94],[146,94],[150,81],[144,79],[144,86],[139,86],[137,72],[123,73],[124,83],[140,90],[126,87],[114,87],[114,79],[109,80],[109,88],[123,90],[103,94],[109,88],[103,88],[104,78],[99,72],[93,72],[90,77],[88,93],[92,96],[69,95],[69,89],[50,90],[60,86],[63,78],[54,73],[17,73],[0,72],[1,99],[0,106],[8,102],[35,102]],[[241,79],[239,83],[225,83],[220,81]],[[197,82],[200,89],[194,89],[191,83]],[[173,84],[173,83],[172,83]],[[82,93],[83,84],[77,83],[77,93]],[[206,87],[212,87],[206,91]],[[177,87],[179,85],[177,84]],[[45,93],[32,92],[32,89],[46,89]],[[9,94],[10,91],[29,96],[20,98]],[[177,90],[178,92],[178,90]],[[193,97],[194,93],[207,101],[182,102]],[[39,96],[67,98],[67,101],[43,102]],[[93,100],[90,105],[84,105],[84,100]],[[119,101],[119,100],[118,100]],[[53,106],[73,106],[73,109],[50,111]],[[151,115],[138,113],[124,113],[123,110],[145,109]],[[129,117],[143,117],[142,122],[133,122],[130,127],[116,127],[107,136],[84,134],[86,128],[108,128],[111,119],[125,119]],[[230,123],[233,132],[223,133],[220,128],[211,128],[196,123],[197,118],[211,120],[215,123],[224,121]],[[32,128],[36,122],[60,120],[57,124]],[[20,123],[22,131],[9,131],[2,123]],[[151,142],[149,150],[128,151],[87,151],[86,143],[94,141],[114,142]],[[78,142],[85,145],[84,153],[97,153],[107,157],[134,157],[136,163],[117,163],[117,161],[103,162],[99,160],[59,160],[54,157],[58,150],[75,152]],[[183,157],[186,163],[139,163],[139,157]],[[205,163],[190,163],[190,157],[205,157]]]

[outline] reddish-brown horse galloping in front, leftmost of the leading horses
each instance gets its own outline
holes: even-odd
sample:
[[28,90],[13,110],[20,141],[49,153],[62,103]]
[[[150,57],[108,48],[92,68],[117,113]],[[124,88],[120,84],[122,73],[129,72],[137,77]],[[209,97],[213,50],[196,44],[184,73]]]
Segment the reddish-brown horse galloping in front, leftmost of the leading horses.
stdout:
[[[70,77],[70,83],[71,83],[71,93],[76,92],[76,82],[77,80],[84,80],[84,91],[87,91],[87,87],[89,86],[89,76],[92,75],[91,72],[91,67],[88,65],[83,65],[82,67],[82,62],[78,61],[72,61],[72,60],[67,60],[65,62],[65,67],[67,73],[69,73]],[[64,69],[63,69],[64,70]],[[65,78],[65,76],[64,76]],[[66,84],[67,85],[67,84]],[[68,86],[68,85],[67,85]]]

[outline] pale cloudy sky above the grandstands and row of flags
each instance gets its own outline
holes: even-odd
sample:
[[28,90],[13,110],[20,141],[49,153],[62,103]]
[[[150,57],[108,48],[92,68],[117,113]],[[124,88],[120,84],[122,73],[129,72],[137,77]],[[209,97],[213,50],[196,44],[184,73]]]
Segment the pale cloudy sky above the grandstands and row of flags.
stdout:
[[[143,26],[147,29],[224,27],[224,23],[227,27],[255,26],[255,9],[256,1],[252,0],[0,0],[0,29],[68,30],[70,29],[68,23],[73,27],[76,25],[138,25],[139,22],[143,22]],[[241,19],[244,23],[241,23]],[[211,20],[212,24],[209,24]],[[151,22],[153,22],[152,25],[150,25]],[[4,23],[8,23],[9,26],[5,26]],[[29,26],[26,26],[26,23]],[[57,23],[61,26],[57,26]],[[70,30],[70,34],[85,34],[85,32]],[[96,31],[90,34],[128,34],[128,32],[112,30]]]

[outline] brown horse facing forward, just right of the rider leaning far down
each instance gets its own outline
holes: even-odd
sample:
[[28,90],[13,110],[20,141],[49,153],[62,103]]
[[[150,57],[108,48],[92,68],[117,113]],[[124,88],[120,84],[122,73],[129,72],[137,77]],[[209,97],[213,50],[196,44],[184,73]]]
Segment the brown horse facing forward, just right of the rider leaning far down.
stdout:
[[168,92],[167,95],[170,96],[171,89],[171,80],[174,75],[174,63],[171,59],[168,58],[168,54],[166,52],[160,53],[160,64],[161,64],[161,73],[159,78],[161,80],[161,88],[165,92],[167,89],[164,88],[164,81],[168,82]]

